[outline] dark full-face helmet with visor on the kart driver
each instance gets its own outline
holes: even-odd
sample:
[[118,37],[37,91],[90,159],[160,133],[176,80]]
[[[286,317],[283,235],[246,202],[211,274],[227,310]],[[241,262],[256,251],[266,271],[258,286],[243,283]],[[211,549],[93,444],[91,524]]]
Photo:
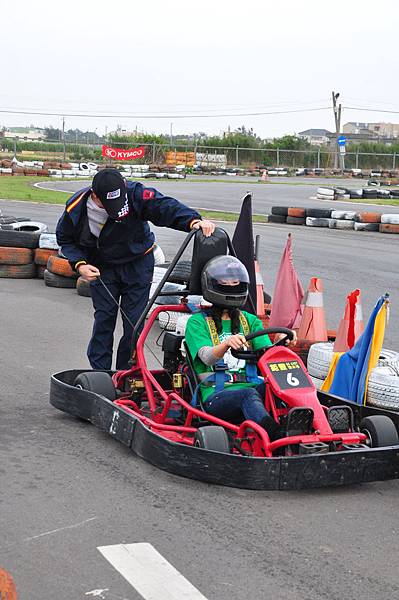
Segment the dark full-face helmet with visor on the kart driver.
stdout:
[[248,298],[248,271],[235,256],[216,256],[201,275],[202,295],[217,306],[240,308]]

